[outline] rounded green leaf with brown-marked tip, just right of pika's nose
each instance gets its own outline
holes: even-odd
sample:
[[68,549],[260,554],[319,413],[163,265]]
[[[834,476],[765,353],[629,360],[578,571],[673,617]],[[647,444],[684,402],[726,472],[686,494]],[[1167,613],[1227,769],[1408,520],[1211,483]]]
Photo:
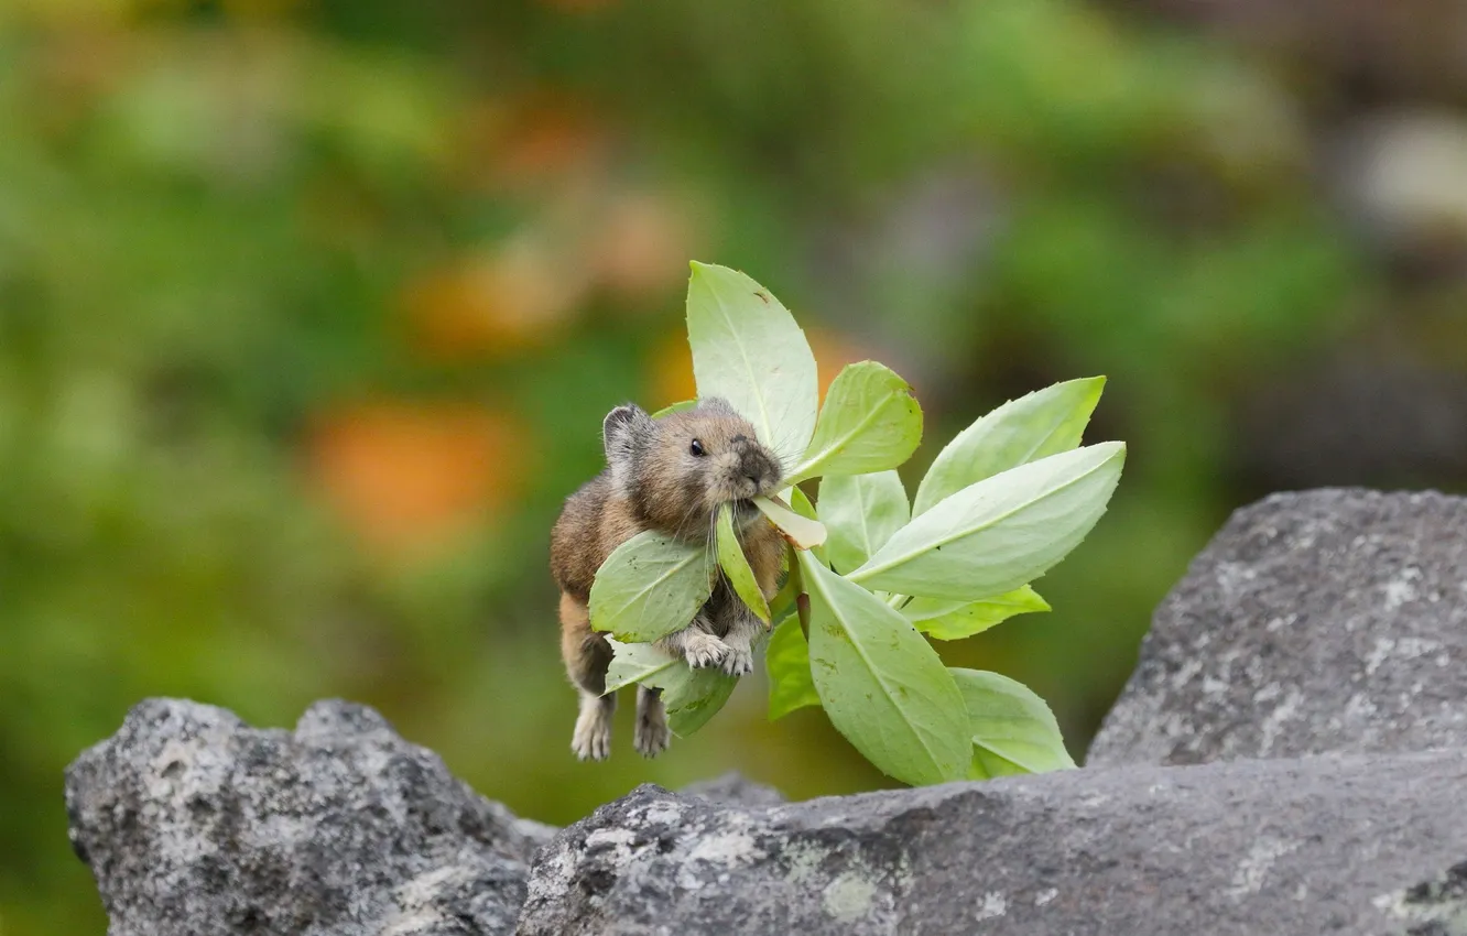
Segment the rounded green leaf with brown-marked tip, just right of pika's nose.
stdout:
[[846,365],[826,392],[814,439],[789,483],[901,465],[921,442],[911,384],[876,361]]

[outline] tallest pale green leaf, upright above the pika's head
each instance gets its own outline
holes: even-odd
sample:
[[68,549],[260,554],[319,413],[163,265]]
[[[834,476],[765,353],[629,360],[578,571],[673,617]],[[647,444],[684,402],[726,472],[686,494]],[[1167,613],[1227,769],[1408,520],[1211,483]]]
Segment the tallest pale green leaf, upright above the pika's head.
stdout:
[[701,263],[688,280],[688,343],[698,396],[722,396],[783,464],[816,427],[816,357],[794,315],[750,277]]

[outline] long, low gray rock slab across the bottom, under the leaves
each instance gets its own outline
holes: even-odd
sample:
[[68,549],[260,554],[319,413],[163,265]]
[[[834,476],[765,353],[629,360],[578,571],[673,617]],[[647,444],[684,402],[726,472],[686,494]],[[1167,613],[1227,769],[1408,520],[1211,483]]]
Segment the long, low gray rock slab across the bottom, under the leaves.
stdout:
[[546,847],[518,933],[1400,933],[1455,899],[1464,780],[1467,753],[1439,751],[773,807],[641,786]]

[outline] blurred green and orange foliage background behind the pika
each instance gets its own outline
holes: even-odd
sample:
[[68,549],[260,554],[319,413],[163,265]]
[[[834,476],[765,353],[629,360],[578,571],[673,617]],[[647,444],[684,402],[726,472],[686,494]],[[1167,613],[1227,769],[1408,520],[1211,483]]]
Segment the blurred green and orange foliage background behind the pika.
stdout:
[[905,376],[912,471],[1109,376],[1090,439],[1127,475],[1055,612],[943,648],[1081,754],[1228,511],[1467,478],[1463,29],[1460,0],[4,0],[0,930],[103,932],[62,769],[147,695],[361,700],[555,823],[732,767],[883,785],[817,710],[767,723],[761,678],[657,761],[629,706],[571,758],[547,535],[612,405],[691,393],[689,258],[773,289],[824,380]]

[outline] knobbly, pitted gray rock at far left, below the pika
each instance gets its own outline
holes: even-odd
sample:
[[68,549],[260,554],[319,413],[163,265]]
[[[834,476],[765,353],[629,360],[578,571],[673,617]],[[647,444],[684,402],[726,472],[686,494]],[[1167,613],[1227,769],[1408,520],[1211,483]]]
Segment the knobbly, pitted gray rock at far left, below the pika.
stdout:
[[144,701],[67,769],[66,810],[111,936],[511,933],[552,832],[339,701],[293,734]]

